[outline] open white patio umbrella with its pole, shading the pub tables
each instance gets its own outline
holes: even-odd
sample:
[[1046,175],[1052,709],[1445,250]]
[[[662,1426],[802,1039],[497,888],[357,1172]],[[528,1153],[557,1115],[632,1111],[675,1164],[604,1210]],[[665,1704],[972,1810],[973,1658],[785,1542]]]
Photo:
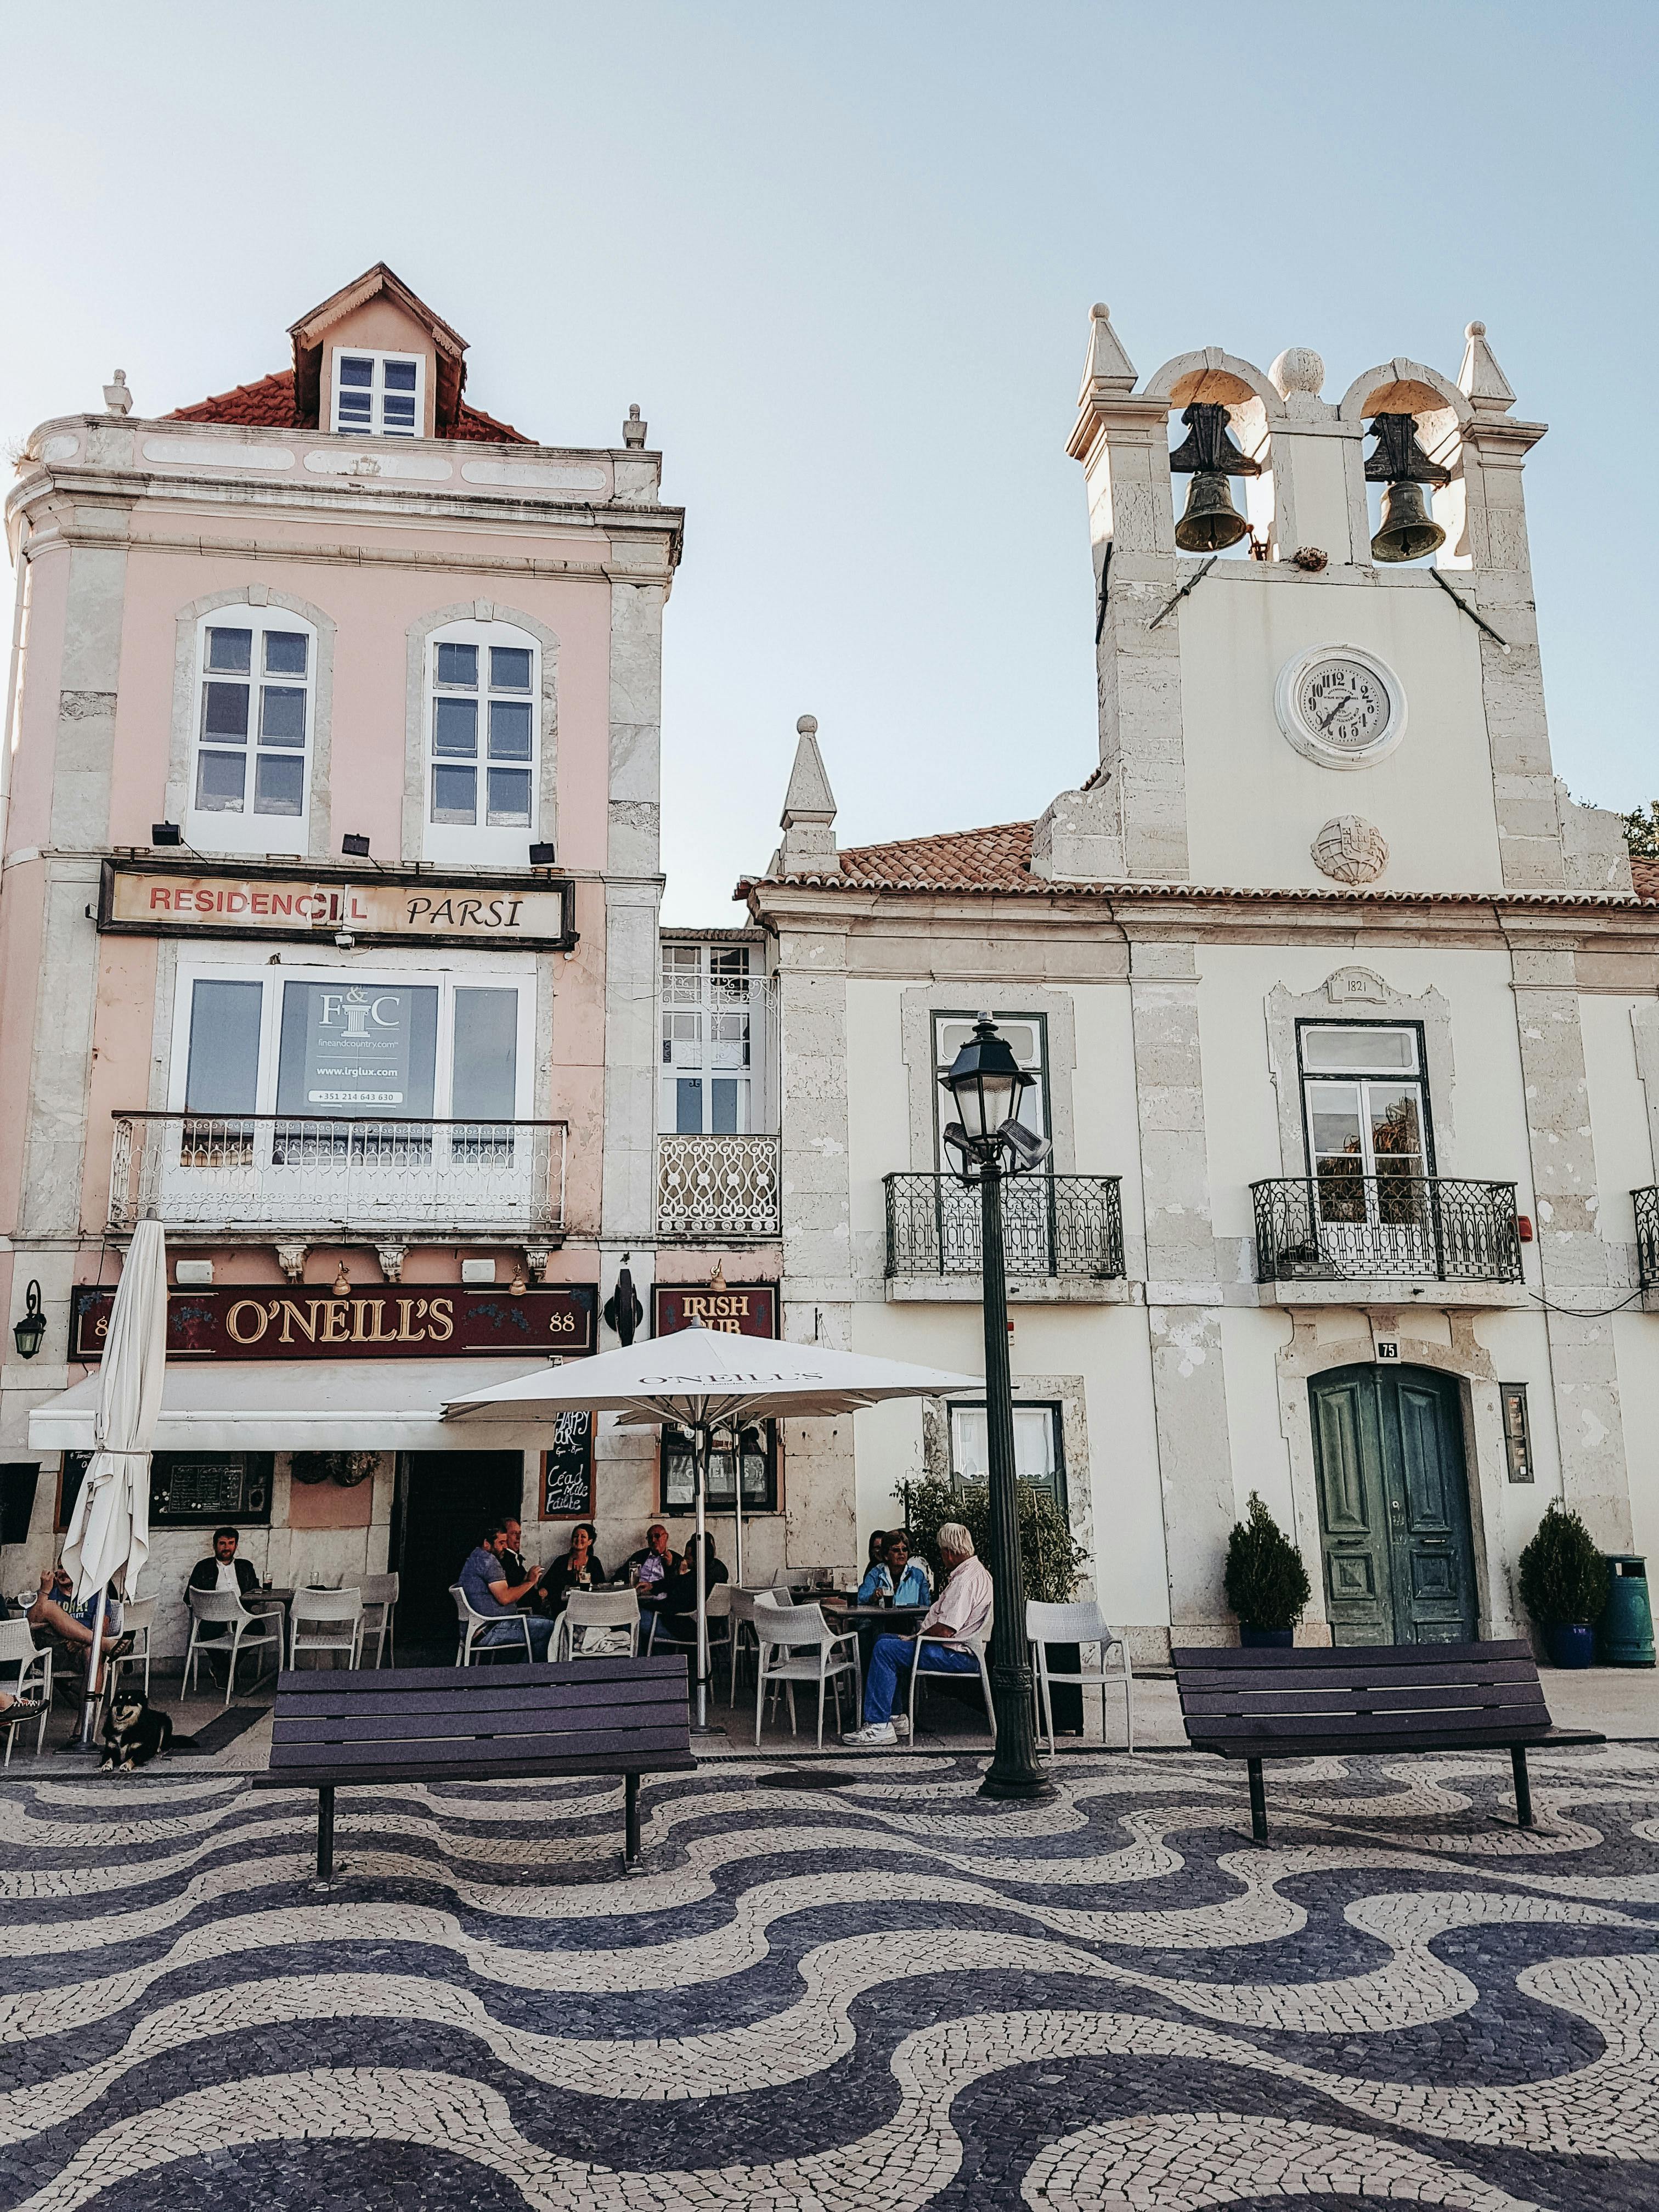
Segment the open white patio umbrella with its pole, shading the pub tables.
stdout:
[[856,1413],[887,1398],[938,1398],[984,1389],[978,1376],[878,1360],[827,1345],[790,1345],[768,1336],[732,1336],[692,1323],[672,1336],[566,1360],[451,1398],[445,1420],[489,1427],[495,1420],[553,1420],[571,1407],[622,1413],[635,1422],[672,1422],[692,1438],[697,1493],[697,1728],[708,1725],[708,1590],[703,1588],[703,1469],[708,1438],[743,1420],[801,1420]]

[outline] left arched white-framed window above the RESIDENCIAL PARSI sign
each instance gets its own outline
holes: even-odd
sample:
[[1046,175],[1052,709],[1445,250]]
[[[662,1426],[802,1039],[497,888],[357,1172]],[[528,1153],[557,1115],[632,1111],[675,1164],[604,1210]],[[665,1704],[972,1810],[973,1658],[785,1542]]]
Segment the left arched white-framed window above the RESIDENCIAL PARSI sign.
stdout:
[[305,852],[316,633],[281,606],[219,606],[197,628],[186,838],[199,852]]

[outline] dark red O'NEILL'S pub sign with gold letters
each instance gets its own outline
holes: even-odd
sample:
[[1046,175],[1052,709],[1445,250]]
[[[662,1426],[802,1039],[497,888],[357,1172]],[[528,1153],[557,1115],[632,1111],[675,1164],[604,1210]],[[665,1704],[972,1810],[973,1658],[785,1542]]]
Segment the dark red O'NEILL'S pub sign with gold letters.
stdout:
[[[168,1292],[170,1360],[573,1358],[593,1352],[595,1290],[480,1290],[374,1283],[334,1296],[327,1283],[226,1283]],[[71,1360],[104,1358],[115,1290],[75,1290]]]

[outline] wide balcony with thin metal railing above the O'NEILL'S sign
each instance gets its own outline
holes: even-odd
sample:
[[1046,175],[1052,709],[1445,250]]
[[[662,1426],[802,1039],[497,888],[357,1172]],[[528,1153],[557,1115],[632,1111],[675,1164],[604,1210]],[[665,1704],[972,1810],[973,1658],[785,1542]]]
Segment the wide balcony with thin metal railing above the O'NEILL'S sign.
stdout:
[[564,1155],[564,1121],[117,1113],[108,1225],[549,1237]]

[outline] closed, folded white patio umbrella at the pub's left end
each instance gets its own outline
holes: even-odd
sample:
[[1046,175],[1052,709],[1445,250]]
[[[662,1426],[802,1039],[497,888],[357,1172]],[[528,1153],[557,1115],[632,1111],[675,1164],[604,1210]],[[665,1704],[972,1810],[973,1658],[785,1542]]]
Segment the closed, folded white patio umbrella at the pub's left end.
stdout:
[[93,1741],[97,1661],[104,1646],[104,1599],[122,1577],[133,1590],[150,1553],[150,1438],[161,1413],[168,1336],[168,1254],[159,1221],[139,1221],[115,1285],[115,1307],[97,1374],[95,1449],[64,1535],[64,1573],[75,1601],[97,1593],[93,1648],[86,1661],[77,1743]]

